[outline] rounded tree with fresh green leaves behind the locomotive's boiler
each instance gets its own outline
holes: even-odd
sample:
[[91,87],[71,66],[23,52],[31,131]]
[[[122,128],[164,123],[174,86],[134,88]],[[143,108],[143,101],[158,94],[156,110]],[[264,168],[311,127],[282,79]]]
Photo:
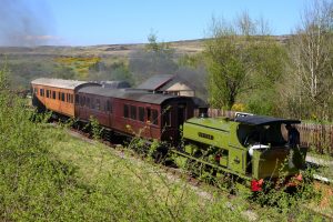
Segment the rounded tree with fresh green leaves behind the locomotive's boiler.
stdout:
[[210,30],[203,53],[212,107],[231,109],[240,94],[279,79],[283,50],[268,33],[262,36],[269,30],[263,20],[244,12],[234,23],[213,19]]

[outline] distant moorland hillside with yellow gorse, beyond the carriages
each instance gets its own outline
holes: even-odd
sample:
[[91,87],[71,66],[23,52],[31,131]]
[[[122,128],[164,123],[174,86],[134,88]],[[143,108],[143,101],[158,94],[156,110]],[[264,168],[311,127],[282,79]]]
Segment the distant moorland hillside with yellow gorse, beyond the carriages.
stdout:
[[[289,39],[285,36],[274,38],[281,43]],[[6,65],[9,69],[14,90],[28,90],[30,81],[40,77],[78,80],[119,80],[122,78],[120,80],[139,84],[152,74],[174,73],[178,65],[176,59],[184,54],[201,52],[204,39],[168,43],[174,50],[173,61],[158,58],[158,63],[151,61],[157,58],[144,53],[145,44],[143,43],[88,47],[0,47],[0,67]],[[133,67],[137,70],[131,70]],[[159,70],[159,73],[154,70]]]

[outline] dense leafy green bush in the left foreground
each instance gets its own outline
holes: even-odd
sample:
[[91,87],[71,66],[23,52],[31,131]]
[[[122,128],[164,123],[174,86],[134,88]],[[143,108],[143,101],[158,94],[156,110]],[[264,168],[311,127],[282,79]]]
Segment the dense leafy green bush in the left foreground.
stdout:
[[62,214],[85,192],[72,190],[74,169],[49,157],[43,128],[30,121],[26,101],[8,91],[0,101],[0,220],[69,220]]

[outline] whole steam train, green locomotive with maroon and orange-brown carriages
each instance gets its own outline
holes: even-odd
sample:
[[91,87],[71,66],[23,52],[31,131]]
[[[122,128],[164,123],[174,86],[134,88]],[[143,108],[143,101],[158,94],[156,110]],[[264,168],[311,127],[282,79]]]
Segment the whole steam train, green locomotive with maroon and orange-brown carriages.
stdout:
[[281,173],[301,180],[306,149],[291,148],[283,135],[284,125],[299,124],[299,120],[246,114],[209,118],[206,108],[194,117],[203,105],[196,98],[105,89],[85,81],[40,78],[31,82],[31,90],[39,111],[81,122],[93,117],[110,132],[175,144],[173,153],[218,174],[241,178],[252,191],[260,191]]

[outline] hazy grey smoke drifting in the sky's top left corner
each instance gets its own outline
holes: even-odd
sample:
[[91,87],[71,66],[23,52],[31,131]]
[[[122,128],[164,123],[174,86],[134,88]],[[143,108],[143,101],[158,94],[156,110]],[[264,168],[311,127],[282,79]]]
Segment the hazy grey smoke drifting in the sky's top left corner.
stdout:
[[58,40],[50,34],[53,22],[43,1],[0,1],[0,46],[33,47]]

